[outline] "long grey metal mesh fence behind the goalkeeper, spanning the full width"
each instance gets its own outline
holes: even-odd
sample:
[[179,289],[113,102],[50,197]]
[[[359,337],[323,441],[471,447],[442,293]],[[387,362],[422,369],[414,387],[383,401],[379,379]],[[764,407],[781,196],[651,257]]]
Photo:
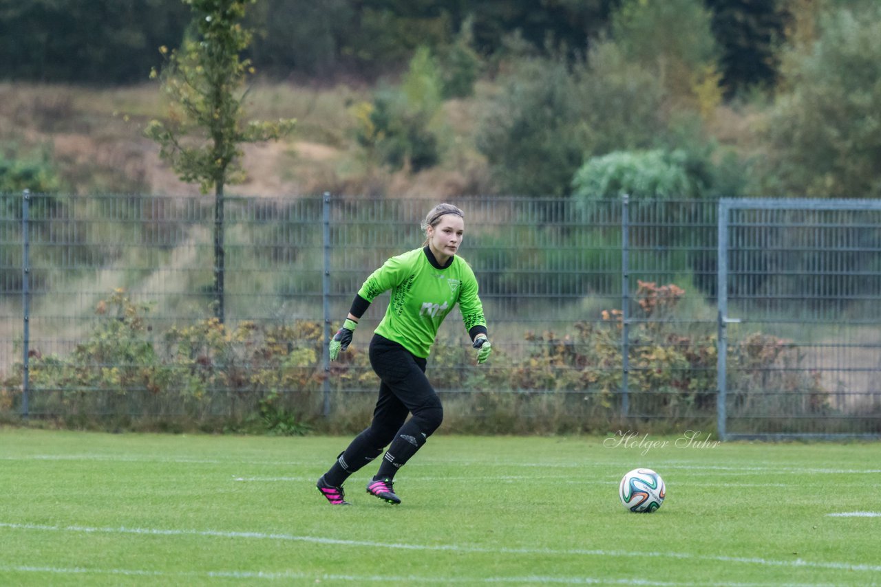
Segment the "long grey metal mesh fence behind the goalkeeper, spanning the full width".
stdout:
[[[211,196],[0,195],[0,412],[358,428],[378,385],[366,346],[388,295],[343,361],[329,363],[327,338],[374,268],[422,245],[419,223],[436,203],[227,198],[221,323]],[[478,368],[450,314],[428,371],[446,428],[716,421],[718,202],[453,203],[465,211],[461,254],[478,276],[493,355]],[[810,400],[735,409],[736,390],[779,393],[762,377],[800,371],[810,377],[787,393],[825,394],[838,410],[834,431],[877,433],[877,416],[866,416],[876,414],[881,371],[877,217],[822,217],[823,228],[784,235],[792,218],[771,216],[759,219],[767,234],[750,235],[750,214],[731,225],[734,235],[744,224],[732,246],[749,246],[726,257],[729,314],[750,318],[737,325],[748,342],[726,333],[727,416],[758,410],[748,428],[759,431],[820,422]],[[788,239],[778,243],[787,260],[769,238]],[[842,249],[834,260],[830,248]],[[787,330],[803,315],[783,300],[806,288],[825,327]]]

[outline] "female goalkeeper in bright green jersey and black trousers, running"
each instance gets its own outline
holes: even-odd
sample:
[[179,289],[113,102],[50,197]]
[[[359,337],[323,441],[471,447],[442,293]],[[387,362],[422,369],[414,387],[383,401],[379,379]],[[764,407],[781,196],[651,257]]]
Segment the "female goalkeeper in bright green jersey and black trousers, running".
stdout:
[[[392,257],[367,278],[343,327],[330,341],[330,359],[335,361],[352,342],[367,307],[391,290],[389,309],[370,341],[370,364],[380,378],[373,422],[316,483],[334,505],[348,504],[344,481],[387,445],[379,471],[367,483],[367,493],[388,503],[401,503],[393,487],[395,473],[443,420],[441,399],[426,378],[426,357],[454,305],[459,305],[472,346],[478,349],[477,362],[484,363],[492,349],[477,279],[468,263],[456,256],[464,233],[462,210],[439,204],[428,213],[422,229],[426,233],[422,248]],[[408,414],[412,414],[409,420]]]

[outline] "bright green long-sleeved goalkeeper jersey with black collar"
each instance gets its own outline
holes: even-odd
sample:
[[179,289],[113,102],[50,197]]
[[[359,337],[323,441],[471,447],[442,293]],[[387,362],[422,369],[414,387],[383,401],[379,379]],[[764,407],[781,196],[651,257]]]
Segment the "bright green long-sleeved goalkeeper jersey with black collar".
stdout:
[[392,257],[367,277],[358,292],[373,302],[391,290],[389,308],[375,332],[422,358],[428,356],[441,322],[456,304],[466,330],[486,327],[478,280],[469,264],[454,256],[446,268],[438,268],[430,254],[426,246]]

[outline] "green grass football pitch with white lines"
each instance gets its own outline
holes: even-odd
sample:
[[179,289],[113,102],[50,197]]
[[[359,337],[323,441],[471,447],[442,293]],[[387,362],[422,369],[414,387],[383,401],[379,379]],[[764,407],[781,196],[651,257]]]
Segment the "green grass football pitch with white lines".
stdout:
[[0,584],[881,584],[881,444],[677,440],[439,435],[332,507],[348,438],[0,429]]

